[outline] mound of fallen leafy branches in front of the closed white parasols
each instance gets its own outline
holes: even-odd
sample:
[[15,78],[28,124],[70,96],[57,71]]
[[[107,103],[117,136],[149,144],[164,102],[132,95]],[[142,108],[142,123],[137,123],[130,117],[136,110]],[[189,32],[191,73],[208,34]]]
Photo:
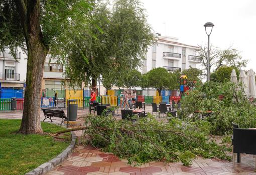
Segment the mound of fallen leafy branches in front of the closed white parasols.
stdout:
[[256,127],[256,108],[245,97],[243,89],[230,82],[209,82],[189,91],[181,101],[184,120],[199,119],[195,111],[212,111],[204,117],[209,122],[210,134],[224,135],[232,132],[232,122],[241,128]]

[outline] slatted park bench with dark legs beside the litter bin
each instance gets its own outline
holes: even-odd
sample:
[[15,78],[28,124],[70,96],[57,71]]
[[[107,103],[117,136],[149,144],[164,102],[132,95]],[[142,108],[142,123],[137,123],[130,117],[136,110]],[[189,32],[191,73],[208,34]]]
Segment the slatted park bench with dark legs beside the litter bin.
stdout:
[[[64,121],[68,122],[68,118],[66,117],[64,111],[62,109],[56,109],[56,108],[41,108],[44,112],[45,119],[49,118],[52,122],[52,117],[58,117],[62,118],[62,124]],[[45,121],[45,119],[43,121]]]

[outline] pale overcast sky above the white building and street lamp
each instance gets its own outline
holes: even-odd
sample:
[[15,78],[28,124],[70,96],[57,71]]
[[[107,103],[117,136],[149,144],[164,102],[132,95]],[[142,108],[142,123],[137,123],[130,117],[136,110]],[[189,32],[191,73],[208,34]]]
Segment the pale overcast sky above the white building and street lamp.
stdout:
[[[248,59],[246,69],[256,71],[256,1],[253,0],[141,0],[148,22],[162,36],[189,45],[207,43],[203,25],[212,22],[210,43],[230,45]],[[165,23],[165,24],[164,24]]]

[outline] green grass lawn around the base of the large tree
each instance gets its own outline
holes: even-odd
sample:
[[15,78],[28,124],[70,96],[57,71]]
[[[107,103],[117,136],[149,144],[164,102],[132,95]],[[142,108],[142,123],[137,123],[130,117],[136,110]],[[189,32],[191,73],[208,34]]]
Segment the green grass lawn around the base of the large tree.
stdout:
[[[61,153],[70,143],[70,133],[55,140],[48,135],[16,134],[21,120],[0,119],[0,175],[25,174]],[[41,122],[44,132],[63,130],[61,126]]]

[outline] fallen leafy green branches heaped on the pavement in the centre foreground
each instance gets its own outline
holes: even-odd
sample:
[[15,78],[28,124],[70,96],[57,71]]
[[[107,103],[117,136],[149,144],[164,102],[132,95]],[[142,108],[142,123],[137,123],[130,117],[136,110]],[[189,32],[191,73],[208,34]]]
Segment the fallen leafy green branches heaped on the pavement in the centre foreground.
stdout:
[[189,165],[197,155],[230,159],[224,145],[207,137],[209,126],[202,120],[188,123],[171,119],[164,123],[150,114],[136,122],[112,116],[88,116],[85,120],[89,144],[125,158],[130,164],[164,160]]

